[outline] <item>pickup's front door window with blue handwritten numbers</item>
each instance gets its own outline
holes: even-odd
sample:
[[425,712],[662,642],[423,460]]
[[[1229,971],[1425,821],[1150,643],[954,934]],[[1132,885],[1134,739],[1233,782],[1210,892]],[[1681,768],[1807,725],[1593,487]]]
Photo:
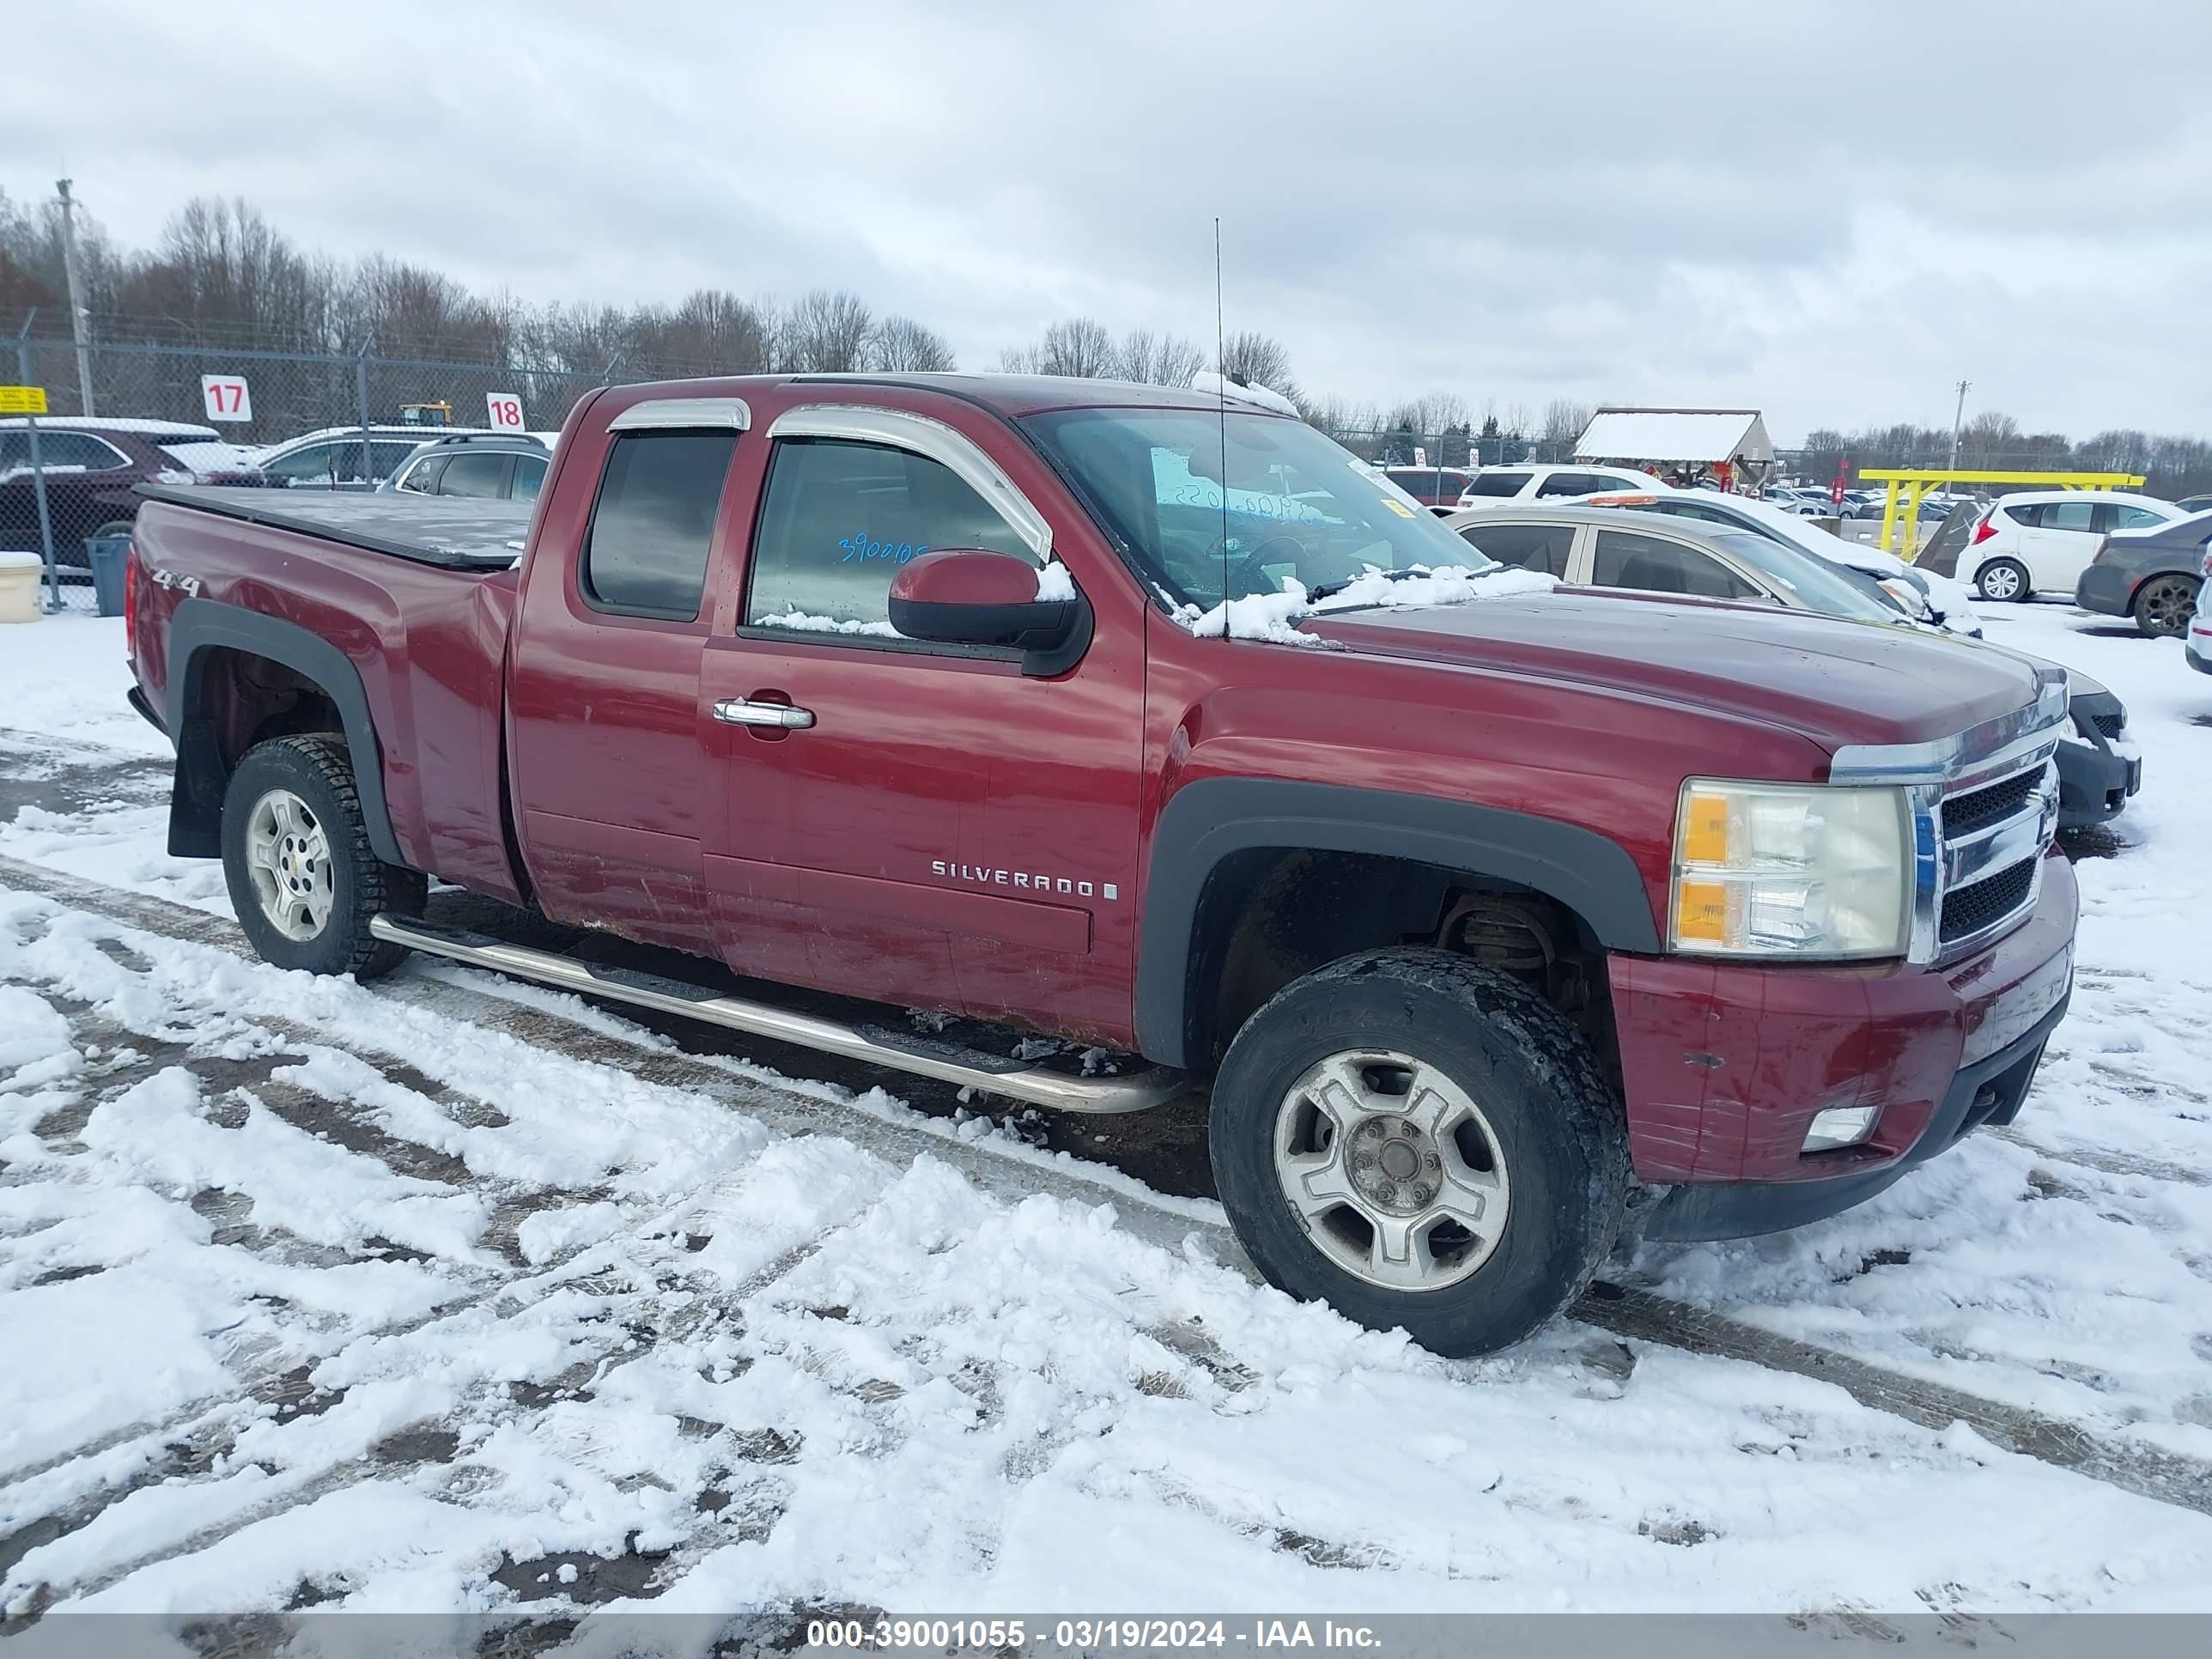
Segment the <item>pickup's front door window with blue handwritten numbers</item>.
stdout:
[[891,575],[922,553],[1037,555],[951,467],[891,445],[783,438],[752,538],[745,622],[891,633]]

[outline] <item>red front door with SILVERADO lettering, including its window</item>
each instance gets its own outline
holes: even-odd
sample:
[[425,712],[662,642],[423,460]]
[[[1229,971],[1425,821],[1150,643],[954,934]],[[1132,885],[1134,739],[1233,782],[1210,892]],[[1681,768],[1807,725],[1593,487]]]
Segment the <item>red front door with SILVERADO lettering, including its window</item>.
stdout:
[[[712,728],[723,821],[706,872],[723,956],[739,973],[982,1018],[1035,1022],[1048,987],[1051,1024],[1126,1031],[1141,599],[1095,584],[1091,648],[1057,677],[1024,677],[1006,650],[900,639],[902,562],[953,546],[1037,562],[1053,531],[993,509],[969,480],[1013,487],[938,422],[863,411],[836,436],[836,411],[792,414],[805,436],[774,440],[745,591],[701,670],[708,710],[748,706]],[[759,723],[776,708],[794,723]]]

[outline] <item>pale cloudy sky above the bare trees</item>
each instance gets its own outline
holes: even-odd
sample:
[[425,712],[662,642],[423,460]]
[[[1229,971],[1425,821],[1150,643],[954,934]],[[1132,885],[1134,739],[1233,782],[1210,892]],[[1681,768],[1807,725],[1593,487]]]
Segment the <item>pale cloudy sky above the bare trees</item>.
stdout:
[[1312,392],[2212,434],[2212,0],[228,4],[9,22],[0,188],[529,301],[1086,312]]

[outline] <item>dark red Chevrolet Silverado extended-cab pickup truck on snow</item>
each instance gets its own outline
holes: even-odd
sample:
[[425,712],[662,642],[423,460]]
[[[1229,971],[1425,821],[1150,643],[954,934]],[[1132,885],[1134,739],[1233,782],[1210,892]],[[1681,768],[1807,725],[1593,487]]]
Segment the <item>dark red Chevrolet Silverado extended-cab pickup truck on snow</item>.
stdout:
[[[2008,1121],[2070,993],[2059,670],[1451,571],[1265,409],[626,385],[535,511],[148,493],[170,849],[270,962],[431,951],[1073,1110],[1203,1088],[1267,1279],[1447,1354],[1557,1312],[1632,1192],[1743,1237]],[[440,925],[429,876],[816,1011]]]

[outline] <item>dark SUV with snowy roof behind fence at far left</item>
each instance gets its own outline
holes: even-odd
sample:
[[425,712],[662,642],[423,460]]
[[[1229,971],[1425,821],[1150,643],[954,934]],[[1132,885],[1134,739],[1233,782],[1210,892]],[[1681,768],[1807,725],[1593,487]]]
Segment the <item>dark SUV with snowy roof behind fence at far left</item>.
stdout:
[[[181,420],[40,416],[38,458],[46,473],[53,557],[77,566],[91,564],[88,538],[131,533],[139,509],[135,489],[148,480],[261,482],[250,451],[223,442],[215,427]],[[0,546],[40,546],[31,431],[22,416],[0,420]]]

